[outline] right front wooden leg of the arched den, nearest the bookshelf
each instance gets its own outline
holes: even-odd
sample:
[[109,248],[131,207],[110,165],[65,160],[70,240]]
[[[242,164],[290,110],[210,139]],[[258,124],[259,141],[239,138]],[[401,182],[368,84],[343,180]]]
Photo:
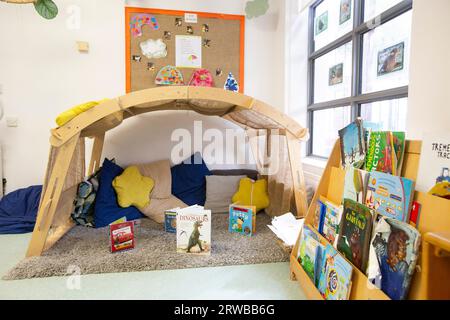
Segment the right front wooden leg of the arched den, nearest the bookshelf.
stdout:
[[292,181],[294,185],[295,205],[297,208],[297,217],[305,217],[308,211],[306,200],[305,177],[303,175],[301,162],[300,140],[295,136],[286,133],[286,141],[289,152],[289,162],[291,165]]

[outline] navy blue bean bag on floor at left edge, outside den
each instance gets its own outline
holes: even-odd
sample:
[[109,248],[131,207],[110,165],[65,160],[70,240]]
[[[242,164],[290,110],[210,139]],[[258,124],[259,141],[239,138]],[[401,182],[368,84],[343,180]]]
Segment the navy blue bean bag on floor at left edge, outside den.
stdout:
[[32,232],[42,186],[31,186],[8,193],[0,200],[0,234]]

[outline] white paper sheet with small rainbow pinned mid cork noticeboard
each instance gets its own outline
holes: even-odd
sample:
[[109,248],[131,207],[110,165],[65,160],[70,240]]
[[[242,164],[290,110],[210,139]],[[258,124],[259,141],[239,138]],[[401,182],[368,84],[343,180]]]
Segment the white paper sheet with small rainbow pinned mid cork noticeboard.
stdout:
[[176,66],[178,68],[202,67],[202,38],[198,36],[175,37]]

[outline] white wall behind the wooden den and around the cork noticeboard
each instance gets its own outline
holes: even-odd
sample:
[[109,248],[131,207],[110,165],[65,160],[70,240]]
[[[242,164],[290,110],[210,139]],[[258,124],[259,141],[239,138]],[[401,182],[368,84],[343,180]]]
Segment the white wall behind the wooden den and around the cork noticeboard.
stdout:
[[[81,102],[124,94],[125,5],[244,14],[245,2],[59,0],[60,14],[51,21],[39,17],[30,5],[0,3],[0,100],[5,117],[19,119],[17,128],[7,127],[5,117],[0,121],[7,191],[42,183],[49,129],[60,112]],[[284,107],[283,3],[271,0],[265,16],[246,20],[245,43],[245,93],[280,109]],[[73,5],[81,9],[78,30],[67,27]],[[76,40],[89,41],[90,52],[78,53]],[[173,145],[170,129],[191,129],[196,119],[204,120],[206,128],[230,127],[221,119],[194,113],[139,116],[108,134],[105,154],[119,163],[167,157]]]

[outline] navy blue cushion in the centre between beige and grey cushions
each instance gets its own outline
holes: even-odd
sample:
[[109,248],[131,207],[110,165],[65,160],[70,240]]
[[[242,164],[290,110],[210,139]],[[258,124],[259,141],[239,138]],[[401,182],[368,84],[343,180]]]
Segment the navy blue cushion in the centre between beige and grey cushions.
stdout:
[[203,206],[206,200],[206,176],[211,175],[200,153],[170,169],[172,194],[187,205]]

